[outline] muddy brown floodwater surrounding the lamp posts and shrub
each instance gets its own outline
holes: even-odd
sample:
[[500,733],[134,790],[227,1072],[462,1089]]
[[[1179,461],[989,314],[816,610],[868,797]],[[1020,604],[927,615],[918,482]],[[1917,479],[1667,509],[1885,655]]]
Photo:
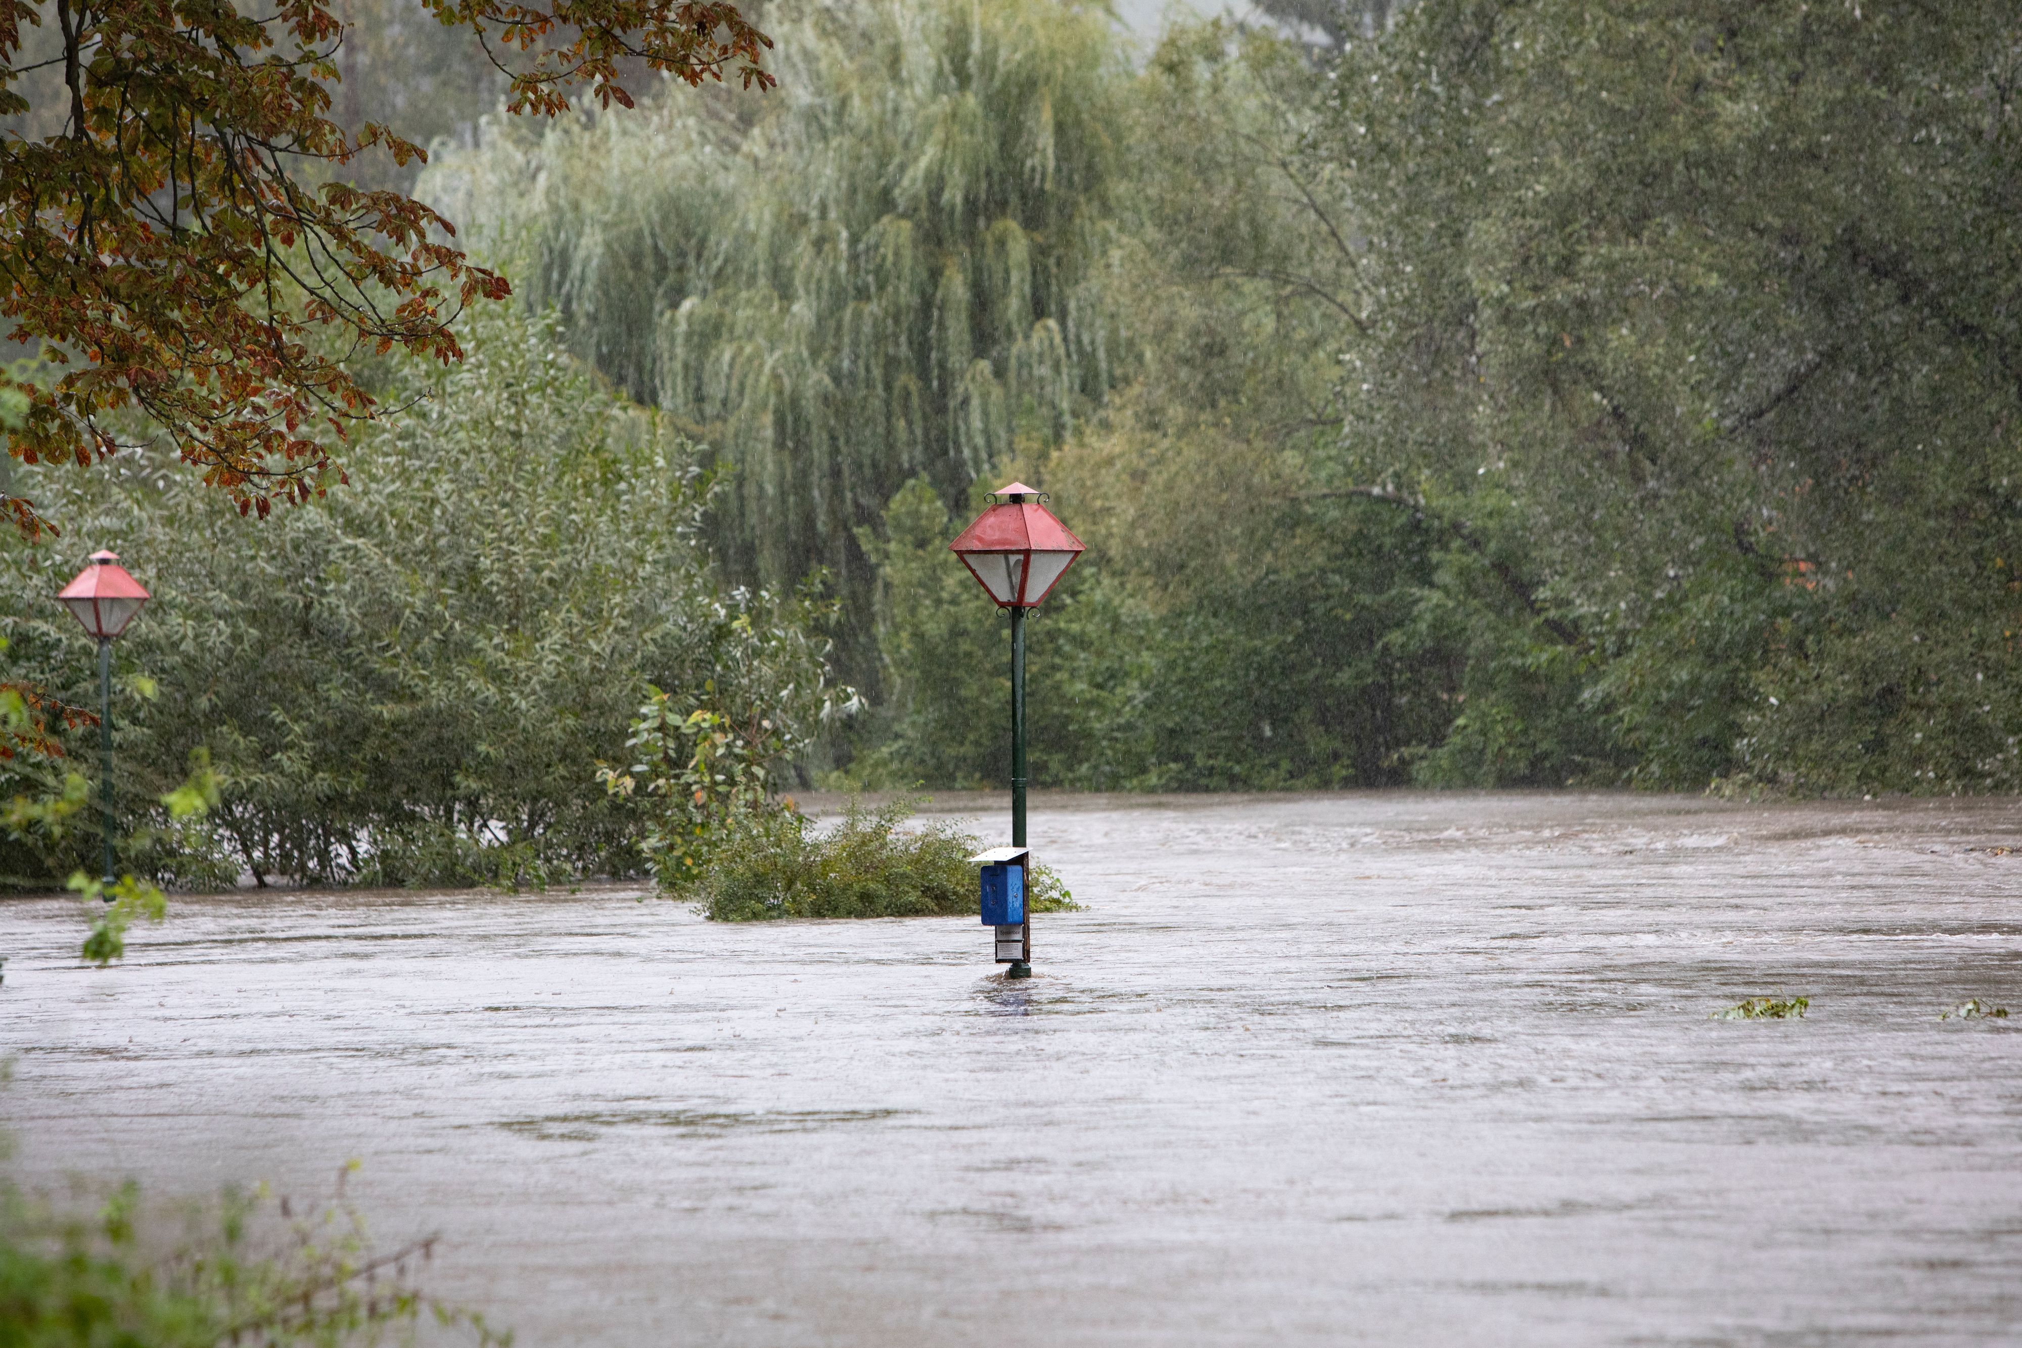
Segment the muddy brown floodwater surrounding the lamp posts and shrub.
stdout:
[[[528,1346],[2022,1340],[2016,802],[1041,796],[1033,841],[1088,909],[1029,982],[977,922],[619,889],[182,899],[91,972],[6,901],[16,1166],[356,1156]],[[1747,996],[1812,1010],[1709,1019]]]

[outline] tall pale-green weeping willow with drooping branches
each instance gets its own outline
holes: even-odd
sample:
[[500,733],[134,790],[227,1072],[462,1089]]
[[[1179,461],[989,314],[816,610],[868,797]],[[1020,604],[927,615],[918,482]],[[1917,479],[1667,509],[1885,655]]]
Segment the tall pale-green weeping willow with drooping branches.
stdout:
[[542,137],[497,127],[423,182],[556,305],[576,352],[734,469],[720,556],[839,574],[926,473],[954,499],[1068,435],[1112,382],[1108,190],[1126,73],[1106,16],[1051,0],[823,6],[780,87]]

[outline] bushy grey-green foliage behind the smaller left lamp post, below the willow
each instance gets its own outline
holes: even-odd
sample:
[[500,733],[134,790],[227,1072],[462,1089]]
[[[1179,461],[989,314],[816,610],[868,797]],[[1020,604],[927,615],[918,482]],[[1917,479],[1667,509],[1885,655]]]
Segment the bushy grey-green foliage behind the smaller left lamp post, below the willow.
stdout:
[[[467,362],[402,390],[429,394],[412,412],[360,439],[350,489],[257,527],[137,453],[113,473],[36,471],[67,532],[121,550],[156,594],[115,645],[127,827],[192,752],[224,776],[208,845],[133,865],[184,883],[637,871],[637,821],[594,770],[621,758],[645,685],[778,691],[754,687],[746,635],[811,614],[718,584],[690,445],[601,390],[550,327],[477,333]],[[85,701],[91,643],[49,598],[71,566],[42,550],[8,572],[0,612],[18,669]],[[819,679],[821,637],[793,639]],[[67,857],[8,869],[61,879]]]

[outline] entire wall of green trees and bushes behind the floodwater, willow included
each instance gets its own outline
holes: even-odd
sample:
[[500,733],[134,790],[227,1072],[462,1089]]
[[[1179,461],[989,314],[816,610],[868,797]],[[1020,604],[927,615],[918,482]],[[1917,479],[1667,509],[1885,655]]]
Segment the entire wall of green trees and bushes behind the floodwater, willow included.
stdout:
[[[522,315],[356,366],[410,410],[263,523],[162,449],[16,467],[65,536],[10,677],[91,705],[47,596],[113,546],[144,873],[673,873],[811,774],[1003,782],[944,546],[1017,475],[1092,546],[1047,784],[2022,788],[2022,14],[1310,8],[1132,63],[1055,0],[817,6],[762,99],[441,143]],[[144,808],[192,754],[216,806]]]

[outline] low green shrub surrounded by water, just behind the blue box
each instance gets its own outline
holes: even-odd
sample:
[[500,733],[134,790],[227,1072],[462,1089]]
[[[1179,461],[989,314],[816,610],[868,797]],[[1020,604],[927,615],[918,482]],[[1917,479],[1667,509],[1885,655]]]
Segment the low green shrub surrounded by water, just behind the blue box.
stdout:
[[[948,823],[902,829],[912,800],[869,810],[851,800],[827,833],[799,810],[746,812],[724,827],[708,867],[683,885],[718,922],[768,918],[934,918],[981,911],[983,841]],[[1078,907],[1047,867],[1033,869],[1029,909]]]

